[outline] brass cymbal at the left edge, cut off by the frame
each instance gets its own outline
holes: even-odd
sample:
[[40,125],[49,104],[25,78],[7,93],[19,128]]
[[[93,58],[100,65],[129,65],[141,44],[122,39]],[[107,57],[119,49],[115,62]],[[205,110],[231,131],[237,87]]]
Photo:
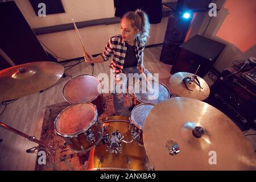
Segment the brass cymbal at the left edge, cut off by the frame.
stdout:
[[20,64],[0,71],[0,101],[39,92],[61,78],[64,67],[53,62]]

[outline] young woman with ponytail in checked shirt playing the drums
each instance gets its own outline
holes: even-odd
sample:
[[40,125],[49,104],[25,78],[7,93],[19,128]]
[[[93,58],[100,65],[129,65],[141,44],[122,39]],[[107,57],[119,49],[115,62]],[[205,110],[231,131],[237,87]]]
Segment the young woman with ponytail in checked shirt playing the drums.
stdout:
[[[143,66],[143,51],[150,33],[150,23],[148,16],[142,10],[129,11],[120,21],[121,34],[110,38],[106,44],[104,52],[97,56],[85,56],[88,63],[102,63],[108,61],[113,55],[113,60],[109,65],[112,68],[115,84],[122,84],[126,87],[127,80],[119,78],[119,73],[149,73]],[[123,93],[114,93],[115,114],[122,115]]]

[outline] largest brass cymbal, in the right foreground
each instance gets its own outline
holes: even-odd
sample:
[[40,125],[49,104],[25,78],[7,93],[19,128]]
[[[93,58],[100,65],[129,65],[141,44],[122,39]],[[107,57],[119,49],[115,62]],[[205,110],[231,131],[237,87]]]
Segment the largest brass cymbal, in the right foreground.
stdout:
[[192,98],[173,97],[153,107],[143,142],[156,170],[256,170],[254,149],[241,130],[215,107]]

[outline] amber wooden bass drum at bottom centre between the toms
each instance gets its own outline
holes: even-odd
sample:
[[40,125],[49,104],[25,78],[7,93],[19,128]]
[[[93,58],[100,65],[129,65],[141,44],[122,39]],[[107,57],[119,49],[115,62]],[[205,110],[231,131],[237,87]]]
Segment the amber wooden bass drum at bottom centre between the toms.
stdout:
[[[113,116],[102,120],[105,132],[111,134],[119,131],[123,134],[123,139],[132,140],[130,134],[130,121],[127,117]],[[114,154],[107,150],[105,144],[93,147],[90,151],[87,163],[87,170],[146,170],[146,151],[135,141],[131,143],[122,142],[121,153]]]

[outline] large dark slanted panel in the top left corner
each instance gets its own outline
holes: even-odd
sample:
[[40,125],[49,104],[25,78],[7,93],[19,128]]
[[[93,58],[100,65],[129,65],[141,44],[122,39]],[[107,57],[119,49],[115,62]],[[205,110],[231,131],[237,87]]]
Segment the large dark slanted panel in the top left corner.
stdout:
[[48,60],[15,1],[0,3],[0,23],[0,47],[14,64]]

